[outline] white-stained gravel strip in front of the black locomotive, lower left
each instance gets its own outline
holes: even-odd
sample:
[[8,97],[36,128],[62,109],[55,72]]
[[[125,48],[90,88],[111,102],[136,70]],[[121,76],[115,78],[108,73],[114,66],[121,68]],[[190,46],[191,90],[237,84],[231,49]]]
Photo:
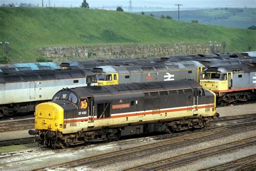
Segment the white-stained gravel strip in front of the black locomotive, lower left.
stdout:
[[[126,141],[126,140],[125,140]],[[151,138],[145,140],[145,141],[137,141],[137,142],[130,142],[127,141],[124,145],[120,146],[118,142],[111,142],[111,143],[106,143],[105,145],[98,146],[98,147],[93,147],[92,146],[86,146],[86,147],[81,147],[80,150],[74,150],[72,151],[71,148],[68,149],[68,151],[65,152],[63,150],[63,153],[55,153],[53,150],[52,152],[47,152],[45,155],[48,155],[51,153],[50,156],[44,157],[44,152],[41,152],[40,154],[38,153],[30,153],[24,155],[23,158],[12,158],[11,160],[8,159],[6,160],[1,160],[0,158],[0,163],[5,163],[5,162],[15,162],[15,161],[20,161],[22,159],[26,159],[26,161],[21,161],[17,162],[15,164],[10,164],[6,165],[4,167],[0,166],[0,170],[32,170],[36,169],[38,167],[46,167],[46,166],[55,166],[58,163],[62,162],[67,162],[67,161],[73,161],[76,159],[82,159],[85,158],[86,156],[94,156],[98,154],[103,154],[103,153],[109,153],[113,151],[118,151],[119,149],[123,148],[131,148],[131,147],[136,147],[136,146],[141,146],[142,143],[149,144],[149,143],[154,143],[156,142],[155,140],[152,140]],[[33,159],[40,156],[39,159]],[[28,160],[30,159],[30,160]]]

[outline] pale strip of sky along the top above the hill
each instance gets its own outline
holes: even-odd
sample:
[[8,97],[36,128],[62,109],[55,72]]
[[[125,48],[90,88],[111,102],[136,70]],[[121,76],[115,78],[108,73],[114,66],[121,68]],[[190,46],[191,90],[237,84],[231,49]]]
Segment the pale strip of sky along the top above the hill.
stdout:
[[[46,3],[53,6],[70,6],[79,7],[83,0],[43,0],[44,6]],[[87,0],[90,6],[103,7],[103,6],[129,6],[130,0]],[[256,0],[131,0],[132,6],[147,6],[147,7],[161,7],[161,8],[175,8],[175,4],[183,4],[184,8],[256,8]],[[42,6],[42,0],[0,0],[3,3],[32,3]]]

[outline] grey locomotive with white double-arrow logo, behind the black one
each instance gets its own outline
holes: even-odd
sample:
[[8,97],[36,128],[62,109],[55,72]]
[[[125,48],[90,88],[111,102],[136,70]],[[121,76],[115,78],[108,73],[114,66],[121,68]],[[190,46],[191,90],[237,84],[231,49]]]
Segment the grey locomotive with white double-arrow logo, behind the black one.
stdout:
[[199,82],[204,65],[198,61],[151,62],[135,65],[99,66],[92,70],[98,85],[192,79]]

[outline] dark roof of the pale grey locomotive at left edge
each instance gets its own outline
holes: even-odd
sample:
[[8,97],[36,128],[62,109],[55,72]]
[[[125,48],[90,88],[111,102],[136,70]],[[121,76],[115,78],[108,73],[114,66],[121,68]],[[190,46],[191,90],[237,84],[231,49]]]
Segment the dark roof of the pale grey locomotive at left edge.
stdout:
[[0,83],[15,83],[21,81],[36,80],[54,80],[54,79],[70,79],[85,78],[86,76],[95,75],[91,71],[85,69],[72,70],[28,70],[16,72],[0,73]]

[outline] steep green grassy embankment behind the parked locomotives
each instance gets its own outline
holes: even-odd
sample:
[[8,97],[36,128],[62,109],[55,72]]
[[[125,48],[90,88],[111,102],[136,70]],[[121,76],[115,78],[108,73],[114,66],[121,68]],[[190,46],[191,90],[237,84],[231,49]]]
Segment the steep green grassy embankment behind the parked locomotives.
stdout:
[[[256,31],[178,22],[127,12],[80,8],[0,8],[0,41],[12,62],[36,61],[37,48],[99,44],[208,44],[226,51],[256,50]],[[3,45],[0,45],[3,46]],[[0,47],[3,57],[3,47]]]

